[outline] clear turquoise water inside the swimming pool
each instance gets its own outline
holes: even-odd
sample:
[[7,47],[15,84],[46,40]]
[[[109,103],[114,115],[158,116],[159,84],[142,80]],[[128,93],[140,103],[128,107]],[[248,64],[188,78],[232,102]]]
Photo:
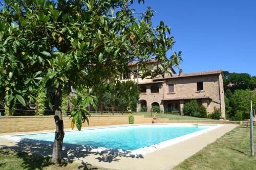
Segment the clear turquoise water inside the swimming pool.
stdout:
[[[64,143],[89,145],[93,147],[136,150],[152,144],[206,129],[205,127],[168,127],[135,125],[119,128],[101,128],[65,132]],[[54,133],[19,135],[16,137],[54,141]]]

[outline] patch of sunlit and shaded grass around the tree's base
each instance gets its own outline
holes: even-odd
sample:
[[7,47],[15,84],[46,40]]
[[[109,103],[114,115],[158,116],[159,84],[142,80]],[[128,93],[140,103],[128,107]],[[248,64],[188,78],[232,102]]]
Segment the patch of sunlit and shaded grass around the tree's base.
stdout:
[[100,168],[91,165],[90,163],[78,163],[73,161],[62,160],[60,165],[51,163],[50,157],[43,157],[36,154],[27,154],[25,152],[16,152],[9,149],[0,149],[0,169],[98,169],[103,170],[106,168]]

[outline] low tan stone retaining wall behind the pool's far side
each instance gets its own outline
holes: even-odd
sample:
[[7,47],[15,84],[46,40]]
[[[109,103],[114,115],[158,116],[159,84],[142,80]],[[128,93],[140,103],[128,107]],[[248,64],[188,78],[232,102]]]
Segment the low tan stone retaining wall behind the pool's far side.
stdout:
[[[152,123],[152,117],[144,115],[134,115],[135,124]],[[71,128],[71,119],[69,116],[63,116],[64,128]],[[108,126],[129,124],[127,115],[93,115],[89,118],[91,126]],[[10,132],[28,132],[40,130],[54,130],[53,116],[0,116],[0,133]],[[82,127],[88,127],[83,123]]]

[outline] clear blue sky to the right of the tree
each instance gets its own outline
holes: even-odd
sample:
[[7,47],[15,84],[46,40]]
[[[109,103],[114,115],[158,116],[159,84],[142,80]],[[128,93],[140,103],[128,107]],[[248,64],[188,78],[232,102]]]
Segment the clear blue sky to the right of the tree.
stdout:
[[150,6],[172,29],[182,51],[183,72],[222,69],[256,76],[255,0],[145,0],[137,12]]

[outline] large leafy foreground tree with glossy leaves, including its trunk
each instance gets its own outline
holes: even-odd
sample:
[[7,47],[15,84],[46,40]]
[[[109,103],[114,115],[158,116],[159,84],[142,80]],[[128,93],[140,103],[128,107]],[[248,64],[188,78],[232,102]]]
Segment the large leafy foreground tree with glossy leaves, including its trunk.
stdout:
[[[6,0],[0,7],[0,96],[8,108],[16,100],[34,102],[44,82],[55,89],[56,133],[52,162],[60,163],[64,137],[61,114],[63,89],[73,86],[71,126],[88,122],[86,106],[102,82],[116,80],[127,65],[138,62],[140,77],[163,75],[178,66],[181,52],[169,58],[175,43],[161,21],[152,27],[150,7],[135,13],[127,0]],[[138,0],[138,3],[144,2]],[[165,61],[148,69],[148,61]],[[26,101],[26,102],[25,102]]]

